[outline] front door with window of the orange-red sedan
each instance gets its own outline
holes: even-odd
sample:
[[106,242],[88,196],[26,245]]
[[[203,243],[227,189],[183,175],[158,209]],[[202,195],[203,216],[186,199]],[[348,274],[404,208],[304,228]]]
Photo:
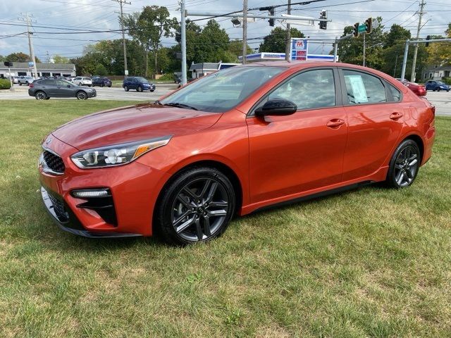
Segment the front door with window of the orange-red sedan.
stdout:
[[[341,182],[347,117],[336,68],[303,70],[266,94],[297,105],[288,116],[247,118],[251,202],[277,199]],[[255,110],[254,108],[254,110]]]

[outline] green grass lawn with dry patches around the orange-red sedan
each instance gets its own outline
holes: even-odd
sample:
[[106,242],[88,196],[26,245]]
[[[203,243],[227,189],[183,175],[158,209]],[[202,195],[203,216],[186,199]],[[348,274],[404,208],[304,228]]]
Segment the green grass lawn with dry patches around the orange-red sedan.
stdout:
[[0,101],[0,337],[451,337],[451,119],[412,187],[236,218],[185,248],[61,232],[42,137],[121,101]]

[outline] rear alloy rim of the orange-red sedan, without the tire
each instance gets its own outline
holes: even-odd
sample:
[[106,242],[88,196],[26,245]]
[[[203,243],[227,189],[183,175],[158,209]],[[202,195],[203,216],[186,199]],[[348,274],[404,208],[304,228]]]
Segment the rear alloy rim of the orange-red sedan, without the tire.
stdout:
[[406,146],[395,160],[395,181],[399,187],[407,187],[419,168],[419,153],[414,146]]

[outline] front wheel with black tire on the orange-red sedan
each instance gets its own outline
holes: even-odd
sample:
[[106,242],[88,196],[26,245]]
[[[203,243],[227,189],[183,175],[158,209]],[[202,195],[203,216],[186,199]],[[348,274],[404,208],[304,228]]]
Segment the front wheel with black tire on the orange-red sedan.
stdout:
[[185,170],[163,188],[155,227],[171,244],[207,242],[219,237],[235,214],[235,191],[215,168]]

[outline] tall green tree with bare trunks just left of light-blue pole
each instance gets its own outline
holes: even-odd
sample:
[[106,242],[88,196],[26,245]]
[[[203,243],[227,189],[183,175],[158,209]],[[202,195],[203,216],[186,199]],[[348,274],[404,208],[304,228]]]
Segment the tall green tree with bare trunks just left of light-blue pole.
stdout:
[[145,74],[149,70],[149,51],[154,54],[154,73],[158,73],[158,51],[162,37],[171,37],[171,30],[175,28],[177,19],[169,17],[168,8],[163,6],[145,6],[141,13],[132,13],[124,18],[124,25],[128,28],[133,39],[140,42],[145,54]]

